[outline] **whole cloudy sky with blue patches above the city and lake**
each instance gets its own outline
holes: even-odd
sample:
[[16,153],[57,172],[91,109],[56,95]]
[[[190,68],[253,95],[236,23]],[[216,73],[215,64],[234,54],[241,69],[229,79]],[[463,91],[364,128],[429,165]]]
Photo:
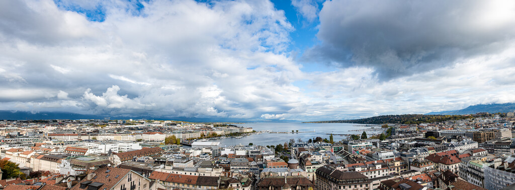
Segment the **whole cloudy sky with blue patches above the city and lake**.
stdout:
[[515,102],[514,1],[0,1],[0,110],[335,120]]

